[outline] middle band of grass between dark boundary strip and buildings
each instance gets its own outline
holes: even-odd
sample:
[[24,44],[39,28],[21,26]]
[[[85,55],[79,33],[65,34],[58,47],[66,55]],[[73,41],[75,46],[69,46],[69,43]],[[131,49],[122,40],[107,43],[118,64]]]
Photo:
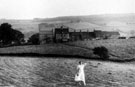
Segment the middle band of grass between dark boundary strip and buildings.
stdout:
[[36,53],[43,55],[80,56],[98,58],[93,54],[93,48],[104,46],[109,51],[109,59],[135,60],[135,39],[108,39],[77,41],[64,44],[27,45],[0,48],[1,54]]

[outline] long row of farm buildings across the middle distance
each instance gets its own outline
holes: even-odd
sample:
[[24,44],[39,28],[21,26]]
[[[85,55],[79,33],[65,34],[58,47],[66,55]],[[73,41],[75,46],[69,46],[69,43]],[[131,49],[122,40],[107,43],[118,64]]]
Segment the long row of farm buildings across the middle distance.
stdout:
[[[81,26],[80,26],[81,25]],[[85,27],[84,27],[85,26]],[[93,38],[112,39],[120,36],[119,32],[93,30],[94,25],[85,23],[39,24],[40,43],[91,40]],[[90,28],[88,28],[90,27]],[[93,28],[93,29],[91,29]]]

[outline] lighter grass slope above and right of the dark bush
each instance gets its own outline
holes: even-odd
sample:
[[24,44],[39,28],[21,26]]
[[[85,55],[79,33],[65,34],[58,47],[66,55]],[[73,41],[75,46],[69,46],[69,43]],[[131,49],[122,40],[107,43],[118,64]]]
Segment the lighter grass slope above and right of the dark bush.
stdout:
[[93,40],[77,41],[68,43],[85,49],[105,46],[110,53],[110,59],[134,59],[135,58],[135,39],[110,39],[110,40]]

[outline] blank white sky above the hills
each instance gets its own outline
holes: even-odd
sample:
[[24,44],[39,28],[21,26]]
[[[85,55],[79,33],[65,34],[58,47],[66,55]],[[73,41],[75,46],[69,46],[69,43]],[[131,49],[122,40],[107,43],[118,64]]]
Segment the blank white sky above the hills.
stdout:
[[0,0],[0,19],[135,13],[135,0]]

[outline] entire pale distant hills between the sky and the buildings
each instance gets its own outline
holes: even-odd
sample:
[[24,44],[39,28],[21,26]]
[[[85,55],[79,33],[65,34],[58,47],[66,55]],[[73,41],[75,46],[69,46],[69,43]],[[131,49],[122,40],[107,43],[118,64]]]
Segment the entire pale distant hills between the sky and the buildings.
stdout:
[[[8,22],[14,29],[22,31],[26,38],[29,34],[38,32],[38,24],[66,24],[73,28],[81,27],[107,31],[119,31],[122,35],[135,35],[135,14],[106,14],[106,15],[86,15],[86,16],[63,16],[55,18],[35,18],[33,20],[8,20],[1,19],[0,24]],[[80,24],[78,26],[78,24]],[[98,27],[97,27],[98,26]],[[32,33],[31,33],[32,32]]]

